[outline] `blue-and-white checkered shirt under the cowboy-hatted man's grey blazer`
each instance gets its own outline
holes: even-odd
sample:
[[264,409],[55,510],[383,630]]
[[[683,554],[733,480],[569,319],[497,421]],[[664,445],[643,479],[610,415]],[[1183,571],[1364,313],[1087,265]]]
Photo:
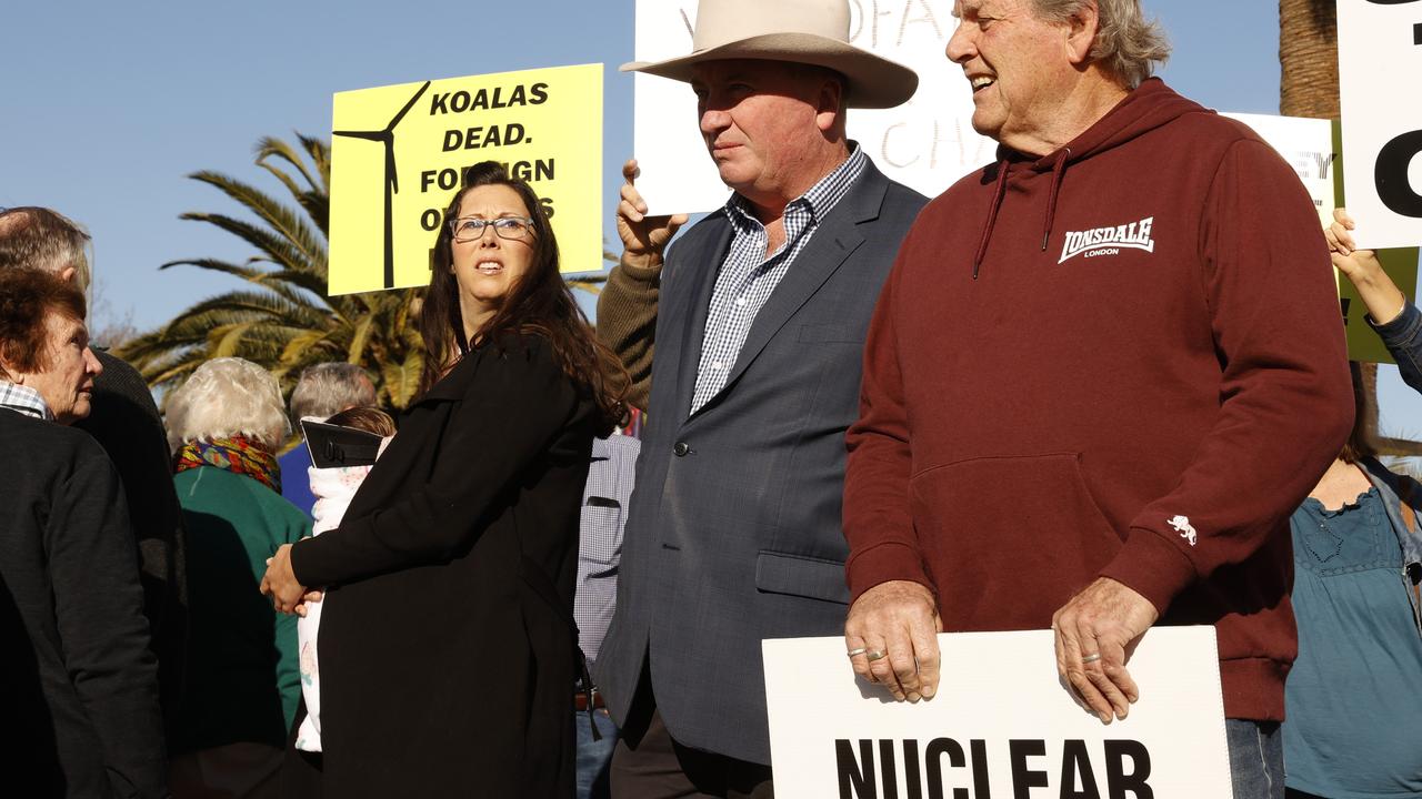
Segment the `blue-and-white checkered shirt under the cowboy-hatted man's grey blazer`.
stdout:
[[761,307],[781,284],[795,256],[809,245],[825,215],[863,173],[866,161],[865,152],[855,145],[848,161],[785,206],[785,243],[771,257],[765,257],[765,225],[751,213],[749,203],[741,195],[732,195],[725,203],[727,219],[734,230],[731,252],[717,273],[711,311],[701,334],[693,414],[725,388],[755,314],[761,313]]

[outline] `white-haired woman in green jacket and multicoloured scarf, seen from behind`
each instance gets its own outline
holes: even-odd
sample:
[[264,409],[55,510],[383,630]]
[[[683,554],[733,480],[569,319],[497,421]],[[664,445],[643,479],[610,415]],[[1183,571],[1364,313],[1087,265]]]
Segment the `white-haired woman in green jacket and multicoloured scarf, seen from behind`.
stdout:
[[290,434],[276,380],[242,358],[201,365],[168,401],[168,442],[188,530],[191,648],[173,796],[276,790],[300,701],[296,617],[257,593],[266,559],[309,536],[282,498],[276,449]]

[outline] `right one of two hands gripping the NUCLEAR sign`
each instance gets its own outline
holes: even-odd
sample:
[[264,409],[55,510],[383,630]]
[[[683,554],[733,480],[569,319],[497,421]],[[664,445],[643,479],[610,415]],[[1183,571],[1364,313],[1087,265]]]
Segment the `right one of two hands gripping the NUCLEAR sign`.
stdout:
[[1159,617],[1150,600],[1109,577],[1096,579],[1052,614],[1057,672],[1102,724],[1111,724],[1112,712],[1126,718],[1140,698],[1126,660]]

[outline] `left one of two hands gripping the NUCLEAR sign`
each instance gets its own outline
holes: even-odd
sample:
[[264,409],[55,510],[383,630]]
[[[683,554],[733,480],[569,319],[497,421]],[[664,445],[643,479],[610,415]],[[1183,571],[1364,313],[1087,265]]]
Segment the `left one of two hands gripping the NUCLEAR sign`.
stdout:
[[[855,674],[883,682],[899,701],[933,698],[939,690],[943,621],[927,587],[909,580],[880,583],[855,600],[845,620],[845,644]],[[870,660],[870,654],[875,654]]]

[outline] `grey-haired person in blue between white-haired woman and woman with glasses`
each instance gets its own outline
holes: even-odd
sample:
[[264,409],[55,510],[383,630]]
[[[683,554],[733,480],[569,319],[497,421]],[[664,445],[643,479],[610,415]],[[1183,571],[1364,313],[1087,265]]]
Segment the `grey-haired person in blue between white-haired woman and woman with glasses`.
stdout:
[[[373,408],[377,402],[375,384],[370,380],[370,374],[356,364],[337,361],[301,370],[301,377],[297,378],[287,401],[287,409],[292,429],[300,432],[301,419],[324,422],[341,411]],[[311,465],[306,446],[293,446],[277,458],[277,463],[282,466],[282,473],[289,475],[282,481],[282,496],[310,516],[316,496],[311,495],[311,483],[306,479],[306,468]]]

